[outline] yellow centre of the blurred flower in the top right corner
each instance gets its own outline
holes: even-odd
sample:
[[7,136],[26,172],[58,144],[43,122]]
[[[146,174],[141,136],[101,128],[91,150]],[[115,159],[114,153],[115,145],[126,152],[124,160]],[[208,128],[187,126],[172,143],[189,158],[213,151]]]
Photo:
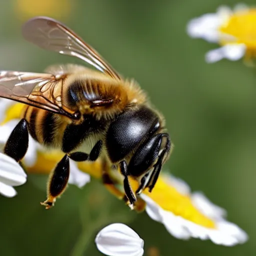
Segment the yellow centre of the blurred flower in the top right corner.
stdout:
[[[246,50],[251,54],[256,53],[256,8],[234,12],[227,22],[219,28],[220,32],[234,36],[234,43],[244,43]],[[230,43],[224,38],[221,44]]]

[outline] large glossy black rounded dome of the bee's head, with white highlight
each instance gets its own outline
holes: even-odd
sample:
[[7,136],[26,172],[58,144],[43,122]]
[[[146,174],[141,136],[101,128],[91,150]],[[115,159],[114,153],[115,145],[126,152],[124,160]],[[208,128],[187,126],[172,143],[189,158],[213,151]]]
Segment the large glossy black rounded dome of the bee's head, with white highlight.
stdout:
[[158,116],[148,107],[127,109],[110,124],[106,133],[106,149],[112,162],[123,159],[139,143],[159,127]]

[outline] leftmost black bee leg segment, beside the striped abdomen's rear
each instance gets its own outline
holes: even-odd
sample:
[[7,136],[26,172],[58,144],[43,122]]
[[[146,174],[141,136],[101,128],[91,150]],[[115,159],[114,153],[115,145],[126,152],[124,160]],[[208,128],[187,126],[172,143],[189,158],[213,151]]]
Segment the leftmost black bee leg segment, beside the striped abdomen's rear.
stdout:
[[3,152],[19,162],[25,155],[28,147],[27,122],[21,119],[7,139]]

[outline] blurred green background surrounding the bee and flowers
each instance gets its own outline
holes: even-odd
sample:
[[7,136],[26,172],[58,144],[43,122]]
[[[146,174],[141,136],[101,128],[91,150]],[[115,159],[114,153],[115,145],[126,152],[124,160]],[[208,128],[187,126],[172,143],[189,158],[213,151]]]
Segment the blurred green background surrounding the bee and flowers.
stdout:
[[[110,222],[128,223],[159,255],[255,255],[256,69],[242,61],[204,61],[217,47],[185,32],[189,19],[235,0],[0,0],[0,69],[41,72],[52,63],[81,61],[25,42],[21,24],[34,15],[60,19],[121,74],[134,77],[163,112],[175,148],[166,163],[192,190],[227,209],[249,235],[243,245],[173,238],[146,213],[92,180],[70,185],[45,211],[44,175],[29,175],[18,196],[0,196],[0,255],[100,255],[93,239]],[[245,3],[253,4],[253,0]],[[157,253],[154,254],[157,256]]]

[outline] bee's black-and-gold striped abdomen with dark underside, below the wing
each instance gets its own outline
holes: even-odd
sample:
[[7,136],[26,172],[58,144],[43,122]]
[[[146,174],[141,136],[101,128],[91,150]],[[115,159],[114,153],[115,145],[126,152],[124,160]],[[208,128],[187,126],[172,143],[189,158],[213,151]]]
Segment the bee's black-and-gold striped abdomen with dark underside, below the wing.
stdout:
[[24,118],[28,121],[28,130],[33,139],[64,152],[78,150],[89,153],[94,144],[102,139],[106,127],[91,117],[90,126],[88,118],[84,118],[80,124],[73,124],[68,118],[33,106],[26,107]]

